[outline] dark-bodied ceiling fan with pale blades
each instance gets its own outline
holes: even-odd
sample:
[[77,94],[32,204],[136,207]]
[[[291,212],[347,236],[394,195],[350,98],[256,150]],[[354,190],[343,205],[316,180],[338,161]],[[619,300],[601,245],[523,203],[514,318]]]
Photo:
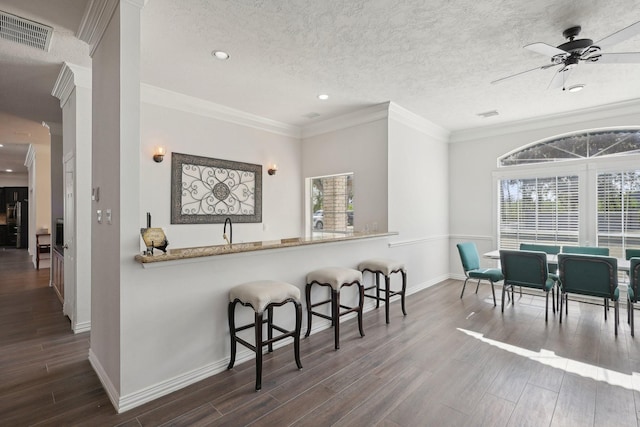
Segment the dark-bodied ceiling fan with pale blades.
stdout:
[[577,25],[567,28],[562,35],[567,39],[565,43],[553,47],[546,43],[531,43],[524,48],[532,52],[540,53],[551,58],[550,64],[530,70],[521,71],[507,77],[494,80],[491,83],[500,83],[513,77],[520,76],[535,70],[546,70],[547,68],[560,67],[551,79],[548,89],[562,88],[571,74],[571,71],[580,63],[587,64],[640,64],[640,52],[620,52],[601,53],[601,49],[620,43],[634,35],[640,33],[640,21],[631,24],[626,28],[616,31],[613,34],[594,43],[591,39],[576,39],[582,28]]

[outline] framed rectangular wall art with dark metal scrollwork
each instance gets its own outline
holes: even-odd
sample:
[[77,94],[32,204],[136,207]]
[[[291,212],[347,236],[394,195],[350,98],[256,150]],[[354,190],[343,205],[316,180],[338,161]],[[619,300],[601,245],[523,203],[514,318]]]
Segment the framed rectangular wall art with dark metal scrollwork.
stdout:
[[171,223],[262,222],[262,166],[171,153]]

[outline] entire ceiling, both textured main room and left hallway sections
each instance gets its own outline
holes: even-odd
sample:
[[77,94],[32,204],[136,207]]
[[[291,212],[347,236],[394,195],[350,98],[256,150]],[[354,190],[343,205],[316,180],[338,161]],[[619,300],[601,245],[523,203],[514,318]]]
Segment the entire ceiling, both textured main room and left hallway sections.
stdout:
[[[2,120],[0,143],[38,143],[42,121],[61,122],[62,63],[91,66],[74,36],[88,1],[0,0],[54,28],[49,52],[0,39],[0,114],[24,119]],[[637,21],[638,0],[149,0],[141,79],[297,126],[393,101],[455,131],[640,99],[632,64],[581,63],[568,82],[579,93],[547,90],[554,69],[490,84],[549,62],[526,44],[559,45],[574,25],[597,41]],[[605,52],[625,51],[640,35]]]

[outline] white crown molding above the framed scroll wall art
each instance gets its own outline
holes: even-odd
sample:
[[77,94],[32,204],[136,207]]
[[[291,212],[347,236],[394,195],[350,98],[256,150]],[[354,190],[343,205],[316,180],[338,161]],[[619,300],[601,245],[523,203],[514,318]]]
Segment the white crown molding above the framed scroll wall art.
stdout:
[[241,126],[275,133],[278,135],[300,138],[300,128],[275,120],[266,119],[255,114],[246,113],[234,108],[225,107],[211,101],[173,92],[146,83],[140,84],[142,102],[158,105],[186,113],[198,114],[212,119],[222,120]]

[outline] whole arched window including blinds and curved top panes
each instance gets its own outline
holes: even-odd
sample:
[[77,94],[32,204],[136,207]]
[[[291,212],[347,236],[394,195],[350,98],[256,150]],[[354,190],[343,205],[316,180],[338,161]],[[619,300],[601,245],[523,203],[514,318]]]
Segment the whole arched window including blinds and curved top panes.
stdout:
[[498,165],[500,248],[605,246],[616,257],[640,248],[640,129],[549,138]]

